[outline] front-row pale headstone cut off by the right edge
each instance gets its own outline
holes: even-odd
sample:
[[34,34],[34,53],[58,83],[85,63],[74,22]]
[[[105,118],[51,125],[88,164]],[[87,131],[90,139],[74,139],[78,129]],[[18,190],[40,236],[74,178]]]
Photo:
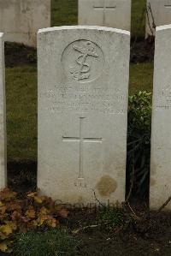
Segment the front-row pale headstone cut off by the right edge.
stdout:
[[[171,25],[156,27],[152,111],[150,207],[171,195]],[[171,210],[171,204],[166,209]]]

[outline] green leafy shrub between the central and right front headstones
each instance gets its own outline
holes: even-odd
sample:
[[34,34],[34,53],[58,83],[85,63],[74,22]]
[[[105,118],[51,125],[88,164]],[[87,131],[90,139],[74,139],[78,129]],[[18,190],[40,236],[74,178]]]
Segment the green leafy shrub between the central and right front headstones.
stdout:
[[151,93],[129,97],[127,131],[127,187],[144,198],[149,192]]

